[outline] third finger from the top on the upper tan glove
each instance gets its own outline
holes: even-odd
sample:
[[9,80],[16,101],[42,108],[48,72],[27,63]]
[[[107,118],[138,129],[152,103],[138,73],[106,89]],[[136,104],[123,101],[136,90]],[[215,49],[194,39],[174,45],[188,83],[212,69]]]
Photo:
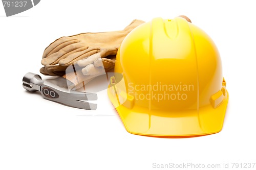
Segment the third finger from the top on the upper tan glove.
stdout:
[[[60,65],[70,65],[71,63],[75,63],[78,60],[81,59],[88,59],[89,56],[94,55],[95,53],[97,53],[99,51],[98,48],[87,48],[86,50],[80,51],[80,52],[76,52],[73,53],[71,55],[69,55],[68,57],[66,57],[65,59],[61,59],[59,61]],[[91,63],[90,63],[91,64]]]

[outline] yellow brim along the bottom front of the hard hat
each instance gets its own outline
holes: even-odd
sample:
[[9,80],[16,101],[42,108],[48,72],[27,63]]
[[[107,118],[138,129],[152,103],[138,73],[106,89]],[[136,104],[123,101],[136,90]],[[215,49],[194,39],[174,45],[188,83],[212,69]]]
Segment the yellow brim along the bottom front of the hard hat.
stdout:
[[[115,96],[111,97],[112,103]],[[189,137],[218,133],[222,130],[228,104],[228,92],[217,108],[211,105],[199,110],[160,112],[134,106],[129,109],[123,105],[116,110],[125,129],[132,134],[163,137]]]

